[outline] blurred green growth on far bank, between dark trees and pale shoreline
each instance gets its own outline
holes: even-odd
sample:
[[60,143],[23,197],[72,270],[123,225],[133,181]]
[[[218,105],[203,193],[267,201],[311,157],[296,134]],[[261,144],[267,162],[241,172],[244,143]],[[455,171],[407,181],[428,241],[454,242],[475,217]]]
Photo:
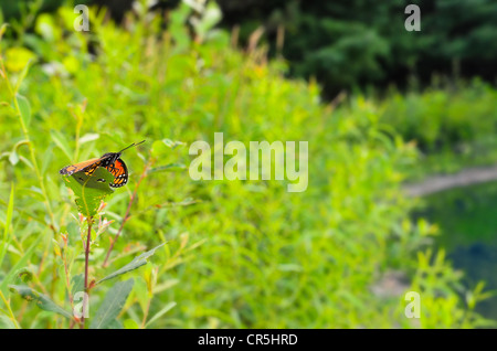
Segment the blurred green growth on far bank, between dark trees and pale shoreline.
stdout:
[[380,120],[414,141],[423,162],[413,177],[497,162],[497,91],[475,79],[423,93],[392,92],[379,103]]

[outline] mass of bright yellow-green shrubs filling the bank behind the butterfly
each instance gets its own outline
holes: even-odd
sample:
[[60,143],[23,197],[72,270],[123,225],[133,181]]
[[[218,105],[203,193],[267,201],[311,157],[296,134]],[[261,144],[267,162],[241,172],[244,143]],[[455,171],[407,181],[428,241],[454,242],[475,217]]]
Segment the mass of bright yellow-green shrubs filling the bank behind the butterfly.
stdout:
[[[73,30],[70,8],[38,17],[34,33],[14,38],[2,26],[3,327],[72,326],[59,308],[70,310],[81,289],[86,233],[59,170],[142,139],[123,156],[128,185],[97,214],[89,277],[102,284],[91,290],[87,327],[486,326],[474,311],[480,287],[464,290],[444,252],[426,247],[435,228],[410,220],[414,204],[400,183],[417,151],[383,121],[395,108],[400,118],[405,103],[325,105],[316,83],[285,78],[286,65],[267,63],[264,50],[230,47],[211,10],[194,41],[184,4],[167,32],[144,9],[125,28],[92,12],[91,33]],[[188,145],[212,145],[216,131],[245,145],[309,141],[307,191],[274,180],[192,181]],[[405,318],[403,294],[374,292],[391,270],[408,277],[403,290],[421,294],[423,318]],[[104,318],[110,298],[119,309]]]

